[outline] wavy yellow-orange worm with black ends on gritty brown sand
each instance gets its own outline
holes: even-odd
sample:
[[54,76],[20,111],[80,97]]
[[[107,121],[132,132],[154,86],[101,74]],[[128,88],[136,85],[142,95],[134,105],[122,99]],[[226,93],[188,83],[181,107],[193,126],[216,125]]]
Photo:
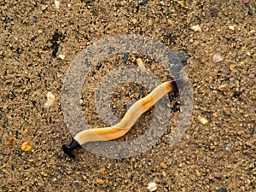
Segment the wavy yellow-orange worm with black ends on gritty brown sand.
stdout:
[[93,128],[79,131],[79,133],[73,137],[73,142],[69,147],[66,145],[62,146],[64,152],[69,156],[74,157],[72,151],[75,148],[79,148],[84,143],[108,141],[124,136],[126,132],[131,130],[131,127],[143,113],[148,111],[149,108],[154,106],[154,104],[160,101],[160,99],[167,93],[177,91],[177,84],[179,84],[179,88],[182,88],[185,84],[187,84],[187,82],[187,79],[181,78],[177,79],[176,81],[167,81],[158,85],[150,94],[148,94],[148,96],[145,96],[135,102],[131,108],[128,109],[125,116],[118,124],[111,127]]

